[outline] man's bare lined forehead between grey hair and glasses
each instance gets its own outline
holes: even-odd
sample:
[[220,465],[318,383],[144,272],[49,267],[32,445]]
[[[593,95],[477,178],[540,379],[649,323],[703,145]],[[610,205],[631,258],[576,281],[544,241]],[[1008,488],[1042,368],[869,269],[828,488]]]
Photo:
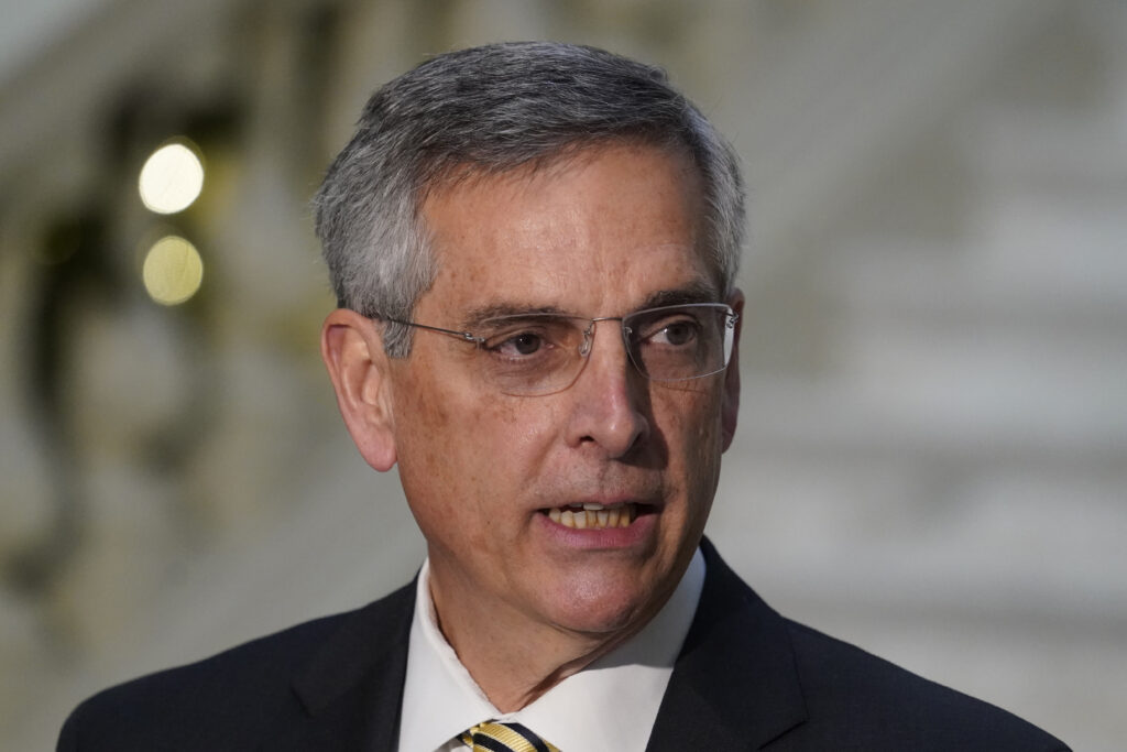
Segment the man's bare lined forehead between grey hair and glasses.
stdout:
[[638,144],[456,183],[423,205],[437,274],[419,307],[601,316],[662,292],[717,299],[703,210],[692,161]]

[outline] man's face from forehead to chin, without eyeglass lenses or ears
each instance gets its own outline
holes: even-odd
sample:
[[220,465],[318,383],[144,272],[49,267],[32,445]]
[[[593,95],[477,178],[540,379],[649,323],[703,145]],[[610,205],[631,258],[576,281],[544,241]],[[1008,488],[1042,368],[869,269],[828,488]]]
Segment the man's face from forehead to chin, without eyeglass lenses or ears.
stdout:
[[[482,311],[593,318],[681,293],[716,302],[702,215],[691,162],[647,147],[456,184],[424,205],[438,273],[414,320],[473,331]],[[514,397],[481,380],[472,344],[414,335],[389,366],[394,453],[443,628],[473,614],[600,636],[645,623],[704,529],[735,427],[735,363],[648,381],[619,322],[603,321],[569,388]],[[583,504],[637,519],[580,530],[550,516]]]

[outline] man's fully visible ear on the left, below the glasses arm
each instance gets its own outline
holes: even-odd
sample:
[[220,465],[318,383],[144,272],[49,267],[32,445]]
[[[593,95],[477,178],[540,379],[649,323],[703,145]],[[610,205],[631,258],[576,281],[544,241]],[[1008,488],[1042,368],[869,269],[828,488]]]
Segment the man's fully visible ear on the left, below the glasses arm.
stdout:
[[394,416],[379,327],[356,311],[332,311],[321,327],[321,359],[360,453],[380,472],[390,470],[396,463]]

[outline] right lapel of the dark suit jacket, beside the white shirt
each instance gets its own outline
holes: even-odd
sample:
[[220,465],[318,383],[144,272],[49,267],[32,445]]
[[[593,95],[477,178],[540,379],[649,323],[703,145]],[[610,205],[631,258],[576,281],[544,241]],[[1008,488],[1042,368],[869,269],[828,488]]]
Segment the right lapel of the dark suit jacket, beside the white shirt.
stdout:
[[786,621],[701,549],[704,590],[647,752],[757,749],[806,719]]

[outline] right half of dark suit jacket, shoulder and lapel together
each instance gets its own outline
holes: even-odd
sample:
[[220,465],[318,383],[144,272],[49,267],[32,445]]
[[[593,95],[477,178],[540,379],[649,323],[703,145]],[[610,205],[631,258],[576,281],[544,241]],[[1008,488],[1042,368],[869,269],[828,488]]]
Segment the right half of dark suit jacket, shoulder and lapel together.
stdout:
[[724,727],[715,736],[726,746],[712,749],[749,740],[771,752],[1067,750],[1001,708],[780,616],[708,540],[701,548],[708,573],[671,680],[678,705],[669,702],[665,733],[685,737],[687,706]]

